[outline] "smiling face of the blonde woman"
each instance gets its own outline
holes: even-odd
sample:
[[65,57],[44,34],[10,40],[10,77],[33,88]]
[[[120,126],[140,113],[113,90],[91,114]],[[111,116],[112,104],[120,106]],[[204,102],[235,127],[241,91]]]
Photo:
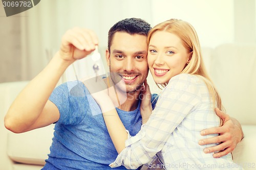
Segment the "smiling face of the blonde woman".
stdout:
[[153,33],[148,45],[147,63],[153,79],[158,84],[168,83],[189,62],[189,53],[181,39],[166,31]]

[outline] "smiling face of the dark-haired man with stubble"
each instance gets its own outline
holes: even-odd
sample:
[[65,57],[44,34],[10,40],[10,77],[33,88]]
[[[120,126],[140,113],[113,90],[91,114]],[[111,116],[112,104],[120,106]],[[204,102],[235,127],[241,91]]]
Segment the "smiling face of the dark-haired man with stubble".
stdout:
[[[117,88],[127,93],[137,91],[148,74],[146,36],[115,33],[110,52],[106,51],[106,60]],[[124,83],[117,84],[121,80]]]

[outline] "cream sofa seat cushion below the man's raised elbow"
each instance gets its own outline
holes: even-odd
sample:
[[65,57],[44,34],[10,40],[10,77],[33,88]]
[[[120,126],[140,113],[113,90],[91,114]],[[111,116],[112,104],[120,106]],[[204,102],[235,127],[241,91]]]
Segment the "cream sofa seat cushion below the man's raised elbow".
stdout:
[[50,153],[54,125],[29,132],[8,133],[7,154],[19,163],[44,165]]

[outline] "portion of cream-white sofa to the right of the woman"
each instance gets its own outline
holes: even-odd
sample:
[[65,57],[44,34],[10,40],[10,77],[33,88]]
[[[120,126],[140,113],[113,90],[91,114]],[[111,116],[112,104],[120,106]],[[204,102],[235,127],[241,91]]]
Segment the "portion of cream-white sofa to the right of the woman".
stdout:
[[232,152],[244,169],[256,169],[256,43],[229,43],[204,48],[209,74],[226,112],[239,120],[244,139]]

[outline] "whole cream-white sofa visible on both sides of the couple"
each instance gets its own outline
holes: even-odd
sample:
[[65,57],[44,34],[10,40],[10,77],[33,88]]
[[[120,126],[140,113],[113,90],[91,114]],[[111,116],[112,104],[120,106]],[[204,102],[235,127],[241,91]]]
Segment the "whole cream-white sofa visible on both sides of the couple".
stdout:
[[[227,113],[242,124],[244,139],[233,151],[234,162],[256,169],[256,44],[223,44],[203,48],[203,56]],[[158,92],[150,77],[152,92]],[[4,127],[4,116],[17,93],[28,82],[0,84],[0,170],[41,169],[53,136],[54,126],[14,134]]]

